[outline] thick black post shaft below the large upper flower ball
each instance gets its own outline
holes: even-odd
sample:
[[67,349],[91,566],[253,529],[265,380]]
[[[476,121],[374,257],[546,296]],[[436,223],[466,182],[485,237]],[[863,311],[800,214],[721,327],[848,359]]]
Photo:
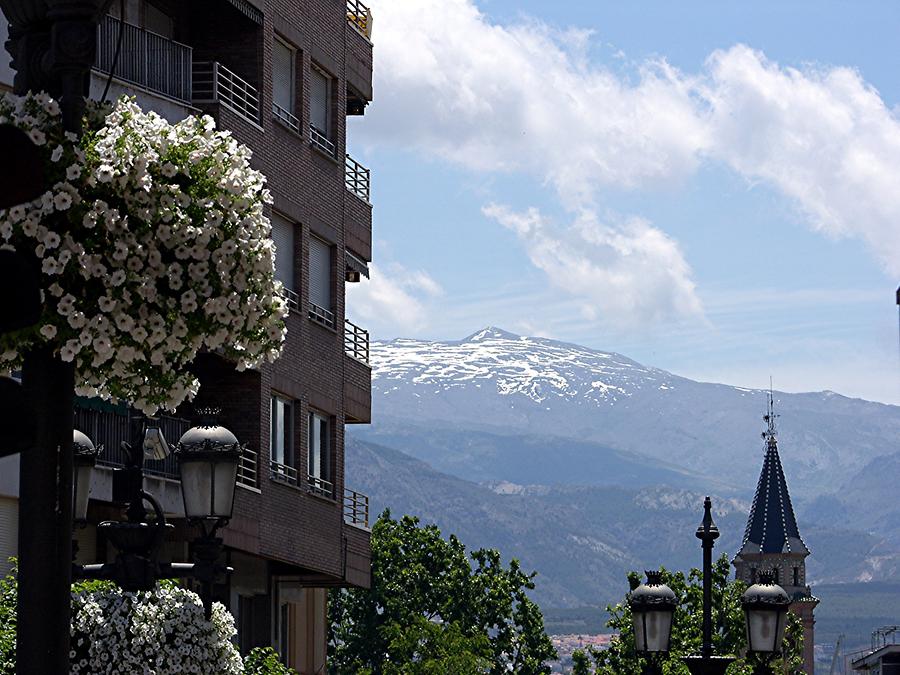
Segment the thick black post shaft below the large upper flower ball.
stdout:
[[49,348],[34,349],[23,364],[22,388],[36,433],[20,459],[16,672],[67,673],[74,368]]

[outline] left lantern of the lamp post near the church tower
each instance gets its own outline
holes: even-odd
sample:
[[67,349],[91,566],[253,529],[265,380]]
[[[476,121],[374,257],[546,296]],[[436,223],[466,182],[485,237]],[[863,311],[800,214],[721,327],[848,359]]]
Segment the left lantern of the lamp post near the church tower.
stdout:
[[658,571],[645,572],[647,583],[635,588],[628,598],[634,624],[634,642],[647,659],[645,675],[661,675],[657,654],[669,652],[672,637],[672,615],[678,604],[675,593],[662,582]]

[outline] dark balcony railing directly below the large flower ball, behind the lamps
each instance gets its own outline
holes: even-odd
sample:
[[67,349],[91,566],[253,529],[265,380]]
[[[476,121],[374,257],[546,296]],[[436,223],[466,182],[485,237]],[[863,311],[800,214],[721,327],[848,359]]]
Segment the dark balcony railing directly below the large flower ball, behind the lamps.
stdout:
[[[122,442],[131,442],[131,413],[127,409],[97,410],[95,408],[75,406],[75,428],[87,434],[94,444],[102,443],[103,452],[97,458],[102,466],[125,466],[128,453],[122,449]],[[159,428],[172,448],[185,431],[190,429],[190,421],[182,417],[160,415]],[[145,460],[144,473],[180,479],[178,460],[174,454],[165,459]]]

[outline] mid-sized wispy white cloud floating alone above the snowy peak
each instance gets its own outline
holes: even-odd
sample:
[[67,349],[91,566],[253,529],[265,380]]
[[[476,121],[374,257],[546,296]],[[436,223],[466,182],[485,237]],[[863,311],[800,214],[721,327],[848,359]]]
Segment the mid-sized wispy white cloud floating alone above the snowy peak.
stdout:
[[516,233],[551,284],[581,300],[588,320],[621,326],[702,314],[678,244],[643,220],[608,225],[583,211],[561,230],[537,209],[491,204],[483,211]]

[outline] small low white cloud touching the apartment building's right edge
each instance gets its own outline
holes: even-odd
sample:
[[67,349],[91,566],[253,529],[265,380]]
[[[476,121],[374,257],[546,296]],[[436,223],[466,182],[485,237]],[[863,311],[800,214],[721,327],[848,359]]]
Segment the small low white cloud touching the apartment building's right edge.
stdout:
[[369,279],[347,285],[347,316],[375,335],[394,337],[428,324],[428,299],[443,293],[426,272],[394,264],[385,273],[369,264]]

